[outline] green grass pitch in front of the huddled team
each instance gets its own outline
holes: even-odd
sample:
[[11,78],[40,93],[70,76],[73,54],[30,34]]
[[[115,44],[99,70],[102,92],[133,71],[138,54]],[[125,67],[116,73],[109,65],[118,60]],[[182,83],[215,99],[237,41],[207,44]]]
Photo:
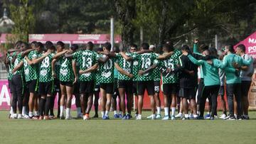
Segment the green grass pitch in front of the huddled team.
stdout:
[[[256,143],[256,111],[248,121],[113,119],[11,120],[0,111],[0,143]],[[92,111],[91,115],[94,112]],[[148,116],[149,111],[144,111]],[[163,114],[163,113],[162,113]],[[220,113],[219,113],[220,114]],[[75,116],[75,111],[73,111]],[[112,113],[110,113],[112,116]]]

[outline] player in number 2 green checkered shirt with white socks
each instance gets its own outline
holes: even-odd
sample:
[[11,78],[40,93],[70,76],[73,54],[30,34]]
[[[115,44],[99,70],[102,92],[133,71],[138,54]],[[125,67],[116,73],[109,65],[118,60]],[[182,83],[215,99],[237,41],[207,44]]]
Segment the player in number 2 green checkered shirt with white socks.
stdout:
[[67,96],[66,101],[66,115],[65,119],[71,119],[70,107],[71,107],[71,99],[73,96],[73,84],[77,81],[76,72],[73,70],[72,59],[65,57],[64,54],[66,52],[72,52],[72,50],[63,50],[62,52],[58,52],[53,56],[53,59],[60,60],[60,119],[63,119],[63,110],[65,104],[65,96]]

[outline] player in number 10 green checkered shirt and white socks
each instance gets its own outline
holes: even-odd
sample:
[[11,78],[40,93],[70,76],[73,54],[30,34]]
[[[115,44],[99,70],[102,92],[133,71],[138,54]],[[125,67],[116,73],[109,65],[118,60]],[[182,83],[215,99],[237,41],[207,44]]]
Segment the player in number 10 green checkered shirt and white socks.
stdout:
[[103,52],[98,55],[100,62],[100,95],[102,107],[102,119],[110,119],[109,112],[111,106],[111,99],[114,89],[114,57],[115,54],[110,52],[111,44],[105,43],[103,45]]

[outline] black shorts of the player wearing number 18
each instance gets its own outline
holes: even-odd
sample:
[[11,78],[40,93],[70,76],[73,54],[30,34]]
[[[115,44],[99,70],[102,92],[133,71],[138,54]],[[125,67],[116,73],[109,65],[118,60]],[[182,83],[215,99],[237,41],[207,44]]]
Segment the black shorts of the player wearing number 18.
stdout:
[[137,92],[138,95],[144,95],[144,92],[148,95],[154,95],[154,81],[138,81],[137,82]]

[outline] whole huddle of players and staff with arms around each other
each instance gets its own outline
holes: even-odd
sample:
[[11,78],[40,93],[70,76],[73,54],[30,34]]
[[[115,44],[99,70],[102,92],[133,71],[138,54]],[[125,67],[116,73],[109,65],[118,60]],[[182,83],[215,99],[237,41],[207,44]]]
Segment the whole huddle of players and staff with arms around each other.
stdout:
[[[93,48],[92,42],[82,48],[76,44],[65,48],[61,41],[57,45],[50,41],[44,45],[18,41],[5,59],[12,97],[10,118],[55,118],[53,107],[58,93],[56,117],[60,119],[71,119],[73,96],[78,118],[89,120],[93,104],[93,118],[97,118],[100,97],[102,119],[110,118],[111,107],[114,118],[130,119],[135,95],[137,113],[134,117],[141,120],[144,94],[147,92],[152,112],[147,118],[203,119],[208,99],[206,117],[213,120],[217,115],[217,97],[220,95],[223,106],[220,118],[249,119],[247,93],[253,74],[253,60],[245,54],[244,45],[238,45],[236,53],[233,45],[226,45],[220,56],[215,48],[198,46],[198,40],[194,41],[193,50],[188,45],[175,49],[172,43],[167,42],[162,46],[161,54],[148,43],[142,43],[140,49],[132,44],[126,52],[119,52],[118,48],[111,50],[110,43],[95,51]],[[225,108],[224,86],[229,115]],[[164,95],[164,116],[161,116],[160,91]],[[179,113],[175,116],[176,107]]]

